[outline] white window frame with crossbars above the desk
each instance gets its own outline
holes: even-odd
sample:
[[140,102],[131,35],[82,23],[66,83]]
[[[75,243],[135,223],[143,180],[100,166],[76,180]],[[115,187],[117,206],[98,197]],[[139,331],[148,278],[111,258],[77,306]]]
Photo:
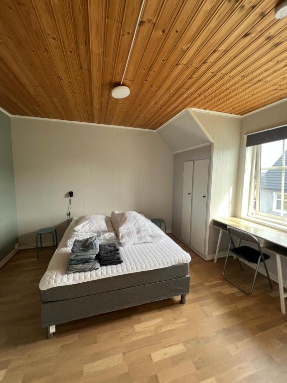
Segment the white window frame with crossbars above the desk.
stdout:
[[[280,140],[283,141],[282,144],[282,165],[281,166],[272,166],[272,167],[264,167],[261,168],[261,152],[262,152],[262,147],[261,145],[257,145],[255,150],[255,156],[253,157],[253,161],[255,164],[253,164],[252,169],[254,169],[255,174],[251,175],[251,179],[254,181],[256,180],[256,187],[255,187],[255,182],[250,183],[250,193],[249,193],[249,209],[248,209],[248,217],[252,218],[258,218],[262,219],[271,223],[280,223],[283,225],[287,226],[287,217],[284,216],[284,195],[286,194],[284,191],[285,187],[285,177],[287,177],[287,164],[285,163],[285,151],[287,150],[286,148],[286,140]],[[281,192],[274,192],[281,194],[281,209],[277,209],[275,211],[281,212],[281,215],[277,214],[270,214],[270,213],[265,213],[259,210],[260,208],[260,192],[261,192],[261,171],[262,170],[280,170],[282,171],[282,178],[281,178]],[[255,189],[256,188],[256,189]],[[255,192],[254,192],[255,189]],[[255,195],[255,209],[254,209],[254,195]],[[283,196],[283,197],[282,197]],[[276,199],[277,201],[277,199]],[[276,205],[275,205],[276,207]],[[273,210],[274,210],[274,201],[273,201]]]

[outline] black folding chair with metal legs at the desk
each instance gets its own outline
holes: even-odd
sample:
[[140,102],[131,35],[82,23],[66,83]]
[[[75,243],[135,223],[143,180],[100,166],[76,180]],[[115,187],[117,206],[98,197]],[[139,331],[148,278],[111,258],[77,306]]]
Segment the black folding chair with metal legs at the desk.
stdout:
[[[229,234],[229,237],[230,237],[230,244],[228,247],[228,251],[227,251],[227,255],[226,255],[226,259],[225,259],[225,263],[224,263],[223,278],[226,279],[233,286],[237,287],[244,294],[250,295],[253,293],[253,290],[254,290],[255,280],[257,277],[260,263],[263,262],[265,270],[266,270],[267,278],[269,280],[270,287],[273,288],[272,282],[270,279],[270,275],[269,275],[269,272],[268,272],[268,269],[266,266],[266,262],[265,262],[267,259],[270,258],[270,256],[268,254],[265,254],[262,252],[262,248],[260,246],[259,240],[254,235],[247,233],[243,230],[235,229],[234,227],[228,227],[227,233]],[[238,238],[238,240],[239,240],[238,246],[235,246],[233,236]],[[251,246],[247,246],[247,245],[240,246],[240,242],[242,240],[246,241],[246,242],[253,243],[258,249],[255,249],[255,248],[253,248]],[[241,266],[240,259],[244,260],[247,264],[255,264],[256,265],[250,291],[245,291],[243,288],[241,288],[236,283],[234,283],[233,281],[231,281],[230,279],[228,279],[226,277],[225,269],[226,269],[229,253],[231,253],[234,257],[237,258],[239,265],[240,265],[240,268],[241,268],[241,271],[242,271],[242,266]]]

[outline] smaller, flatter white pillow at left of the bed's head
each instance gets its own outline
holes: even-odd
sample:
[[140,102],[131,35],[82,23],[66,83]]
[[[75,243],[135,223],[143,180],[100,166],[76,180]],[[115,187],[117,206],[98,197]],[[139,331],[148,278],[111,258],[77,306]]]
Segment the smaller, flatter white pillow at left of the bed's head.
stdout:
[[114,231],[110,217],[102,214],[83,215],[79,217],[74,226],[74,230],[80,233]]

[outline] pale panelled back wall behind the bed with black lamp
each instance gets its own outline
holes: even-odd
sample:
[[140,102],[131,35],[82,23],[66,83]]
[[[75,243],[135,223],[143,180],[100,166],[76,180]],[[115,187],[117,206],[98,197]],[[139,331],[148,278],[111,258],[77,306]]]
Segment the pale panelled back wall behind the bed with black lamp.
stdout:
[[171,228],[173,154],[152,131],[11,118],[18,234],[67,227],[71,215],[137,210]]

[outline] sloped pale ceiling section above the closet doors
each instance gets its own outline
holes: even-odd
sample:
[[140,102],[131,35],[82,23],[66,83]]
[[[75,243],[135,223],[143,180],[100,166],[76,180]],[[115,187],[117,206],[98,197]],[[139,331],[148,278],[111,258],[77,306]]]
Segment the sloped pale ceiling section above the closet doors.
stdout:
[[157,130],[157,133],[172,152],[183,151],[211,143],[200,122],[188,109],[164,124]]

